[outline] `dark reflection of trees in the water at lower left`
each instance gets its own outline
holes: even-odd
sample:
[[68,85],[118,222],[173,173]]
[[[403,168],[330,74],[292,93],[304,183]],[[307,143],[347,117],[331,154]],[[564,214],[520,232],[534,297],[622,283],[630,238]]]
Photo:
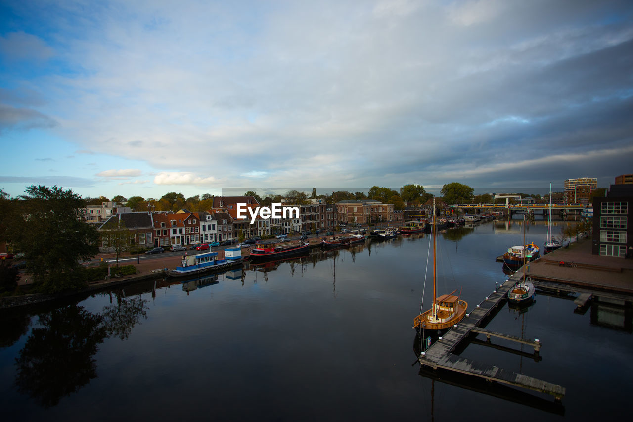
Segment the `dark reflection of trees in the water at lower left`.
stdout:
[[68,305],[39,316],[16,357],[15,385],[41,406],[60,400],[97,378],[94,354],[99,343],[116,336],[125,340],[141,317],[147,317],[147,300],[120,298],[117,304],[93,314],[82,306]]

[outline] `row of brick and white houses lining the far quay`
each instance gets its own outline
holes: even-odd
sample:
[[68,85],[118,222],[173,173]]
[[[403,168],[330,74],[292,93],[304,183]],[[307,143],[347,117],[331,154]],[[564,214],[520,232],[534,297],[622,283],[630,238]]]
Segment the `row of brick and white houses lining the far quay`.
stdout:
[[[213,207],[203,212],[186,209],[178,212],[130,212],[113,207],[110,217],[98,228],[108,231],[125,227],[130,243],[149,247],[237,240],[241,235],[252,238],[316,229],[330,231],[340,224],[403,219],[403,213],[394,211],[392,204],[380,201],[341,201],[332,205],[315,200],[314,203],[297,205],[298,218],[263,219],[258,216],[251,222],[250,218],[237,218],[237,204],[246,204],[249,208],[260,206],[253,196],[216,196]],[[101,246],[108,247],[107,243],[108,237],[102,236]]]

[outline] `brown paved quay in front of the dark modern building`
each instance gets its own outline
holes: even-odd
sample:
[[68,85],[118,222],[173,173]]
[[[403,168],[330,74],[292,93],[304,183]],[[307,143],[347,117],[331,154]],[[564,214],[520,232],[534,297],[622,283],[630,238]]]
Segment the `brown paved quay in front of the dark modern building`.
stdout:
[[633,260],[592,255],[591,246],[591,238],[563,246],[530,262],[527,275],[537,281],[633,295]]

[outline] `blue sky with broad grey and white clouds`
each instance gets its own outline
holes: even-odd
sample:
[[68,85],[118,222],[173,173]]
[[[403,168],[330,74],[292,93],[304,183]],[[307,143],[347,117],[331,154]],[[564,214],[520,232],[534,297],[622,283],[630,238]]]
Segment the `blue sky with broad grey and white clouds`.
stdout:
[[608,187],[632,94],[630,0],[3,0],[0,189]]

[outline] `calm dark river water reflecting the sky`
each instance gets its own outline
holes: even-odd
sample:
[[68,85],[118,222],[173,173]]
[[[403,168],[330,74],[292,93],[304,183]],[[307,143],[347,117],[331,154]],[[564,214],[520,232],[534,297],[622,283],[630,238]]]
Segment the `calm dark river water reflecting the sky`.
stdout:
[[[522,227],[487,222],[441,234],[439,293],[461,289],[472,309],[506,278],[495,258],[522,242]],[[526,227],[526,240],[542,245],[544,222]],[[462,421],[510,414],[548,421],[561,413],[580,420],[625,414],[633,340],[630,310],[617,305],[580,315],[573,300],[537,293],[526,312],[506,305],[487,328],[539,338],[540,361],[477,344],[461,352],[566,387],[561,406],[538,393],[540,400],[523,393],[501,399],[472,388],[496,395],[507,389],[418,374],[411,325],[428,250],[424,235],[315,250],[237,279],[204,279],[200,288],[159,281],[153,293],[154,282],[147,282],[30,313],[3,312],[0,406],[6,420],[25,421]]]

